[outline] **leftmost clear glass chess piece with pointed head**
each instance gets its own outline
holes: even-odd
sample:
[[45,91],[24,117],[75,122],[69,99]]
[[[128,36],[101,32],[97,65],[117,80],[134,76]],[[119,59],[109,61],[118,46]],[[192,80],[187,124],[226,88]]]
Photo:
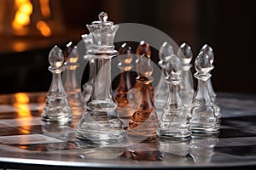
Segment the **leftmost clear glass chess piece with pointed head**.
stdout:
[[46,105],[42,113],[42,121],[64,125],[72,121],[72,111],[67,103],[67,94],[61,80],[64,71],[64,57],[61,48],[55,46],[49,52],[49,71],[52,81],[47,93]]

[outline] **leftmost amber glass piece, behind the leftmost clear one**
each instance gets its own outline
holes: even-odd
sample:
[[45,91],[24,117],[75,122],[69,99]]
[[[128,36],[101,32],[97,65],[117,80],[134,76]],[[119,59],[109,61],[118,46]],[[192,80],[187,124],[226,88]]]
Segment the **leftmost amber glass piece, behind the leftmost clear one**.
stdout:
[[72,110],[73,118],[79,118],[84,111],[84,104],[81,97],[81,88],[79,87],[76,75],[76,69],[79,67],[79,52],[77,46],[75,46],[73,42],[67,43],[64,50],[64,58],[66,60],[65,67],[67,71],[64,88],[67,93],[68,105]]

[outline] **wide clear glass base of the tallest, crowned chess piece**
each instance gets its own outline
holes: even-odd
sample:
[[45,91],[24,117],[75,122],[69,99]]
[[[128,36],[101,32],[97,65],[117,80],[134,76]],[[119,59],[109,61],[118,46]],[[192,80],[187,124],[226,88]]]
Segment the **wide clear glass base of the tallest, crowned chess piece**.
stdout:
[[76,137],[101,145],[119,145],[126,141],[123,123],[111,111],[85,111],[79,121]]

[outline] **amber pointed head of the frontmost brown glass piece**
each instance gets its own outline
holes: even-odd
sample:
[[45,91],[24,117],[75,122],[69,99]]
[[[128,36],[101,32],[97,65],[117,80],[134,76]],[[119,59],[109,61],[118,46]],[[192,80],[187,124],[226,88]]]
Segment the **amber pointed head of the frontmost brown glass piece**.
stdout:
[[137,74],[140,77],[150,77],[153,72],[153,65],[147,54],[143,54],[137,60]]

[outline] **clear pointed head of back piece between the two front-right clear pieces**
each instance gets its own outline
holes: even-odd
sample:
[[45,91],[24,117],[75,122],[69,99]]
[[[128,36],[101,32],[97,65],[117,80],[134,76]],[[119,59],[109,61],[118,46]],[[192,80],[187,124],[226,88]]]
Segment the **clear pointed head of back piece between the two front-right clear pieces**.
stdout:
[[187,43],[183,42],[177,51],[177,56],[182,59],[183,65],[189,65],[193,58],[192,49]]

